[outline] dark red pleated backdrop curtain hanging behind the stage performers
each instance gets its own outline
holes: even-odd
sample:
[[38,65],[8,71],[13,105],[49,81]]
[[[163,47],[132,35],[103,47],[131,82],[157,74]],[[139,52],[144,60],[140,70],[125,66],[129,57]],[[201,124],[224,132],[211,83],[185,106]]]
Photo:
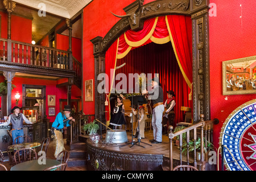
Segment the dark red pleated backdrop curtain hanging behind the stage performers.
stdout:
[[[179,69],[171,42],[166,44],[150,43],[133,49],[127,56],[117,60],[117,65],[123,63],[126,63],[125,67],[117,69],[115,71],[116,75],[118,73],[125,73],[126,75],[129,73],[159,73],[160,83],[164,91],[164,102],[167,99],[166,92],[168,90],[173,90],[176,94],[174,127],[176,123],[183,121],[184,113],[180,110],[180,107],[191,107],[191,101],[188,100],[190,89]],[[115,85],[118,82],[116,80]]]

